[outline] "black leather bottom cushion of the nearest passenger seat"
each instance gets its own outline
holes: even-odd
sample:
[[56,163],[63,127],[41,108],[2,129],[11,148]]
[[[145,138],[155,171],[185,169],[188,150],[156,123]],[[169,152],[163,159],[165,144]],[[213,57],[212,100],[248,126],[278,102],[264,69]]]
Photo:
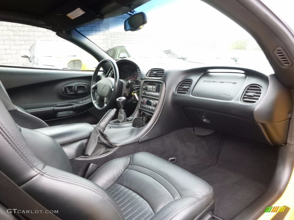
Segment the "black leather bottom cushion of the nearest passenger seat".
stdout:
[[202,219],[214,208],[207,182],[151,153],[111,160],[89,180],[110,194],[126,220]]

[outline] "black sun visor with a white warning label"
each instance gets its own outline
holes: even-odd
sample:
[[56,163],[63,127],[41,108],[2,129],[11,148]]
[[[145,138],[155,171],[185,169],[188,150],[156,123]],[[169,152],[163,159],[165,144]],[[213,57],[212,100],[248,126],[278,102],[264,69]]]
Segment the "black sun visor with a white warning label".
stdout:
[[56,29],[67,31],[89,23],[96,18],[97,15],[94,11],[77,1],[69,1],[47,15],[44,20]]

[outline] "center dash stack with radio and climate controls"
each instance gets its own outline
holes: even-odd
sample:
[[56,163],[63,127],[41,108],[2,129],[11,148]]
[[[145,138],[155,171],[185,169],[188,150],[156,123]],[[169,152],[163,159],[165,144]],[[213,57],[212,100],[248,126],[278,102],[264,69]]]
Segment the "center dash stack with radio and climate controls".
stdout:
[[161,94],[161,89],[161,82],[144,82],[142,99],[139,106],[143,125],[146,125],[153,116],[156,107],[158,106],[158,99]]

